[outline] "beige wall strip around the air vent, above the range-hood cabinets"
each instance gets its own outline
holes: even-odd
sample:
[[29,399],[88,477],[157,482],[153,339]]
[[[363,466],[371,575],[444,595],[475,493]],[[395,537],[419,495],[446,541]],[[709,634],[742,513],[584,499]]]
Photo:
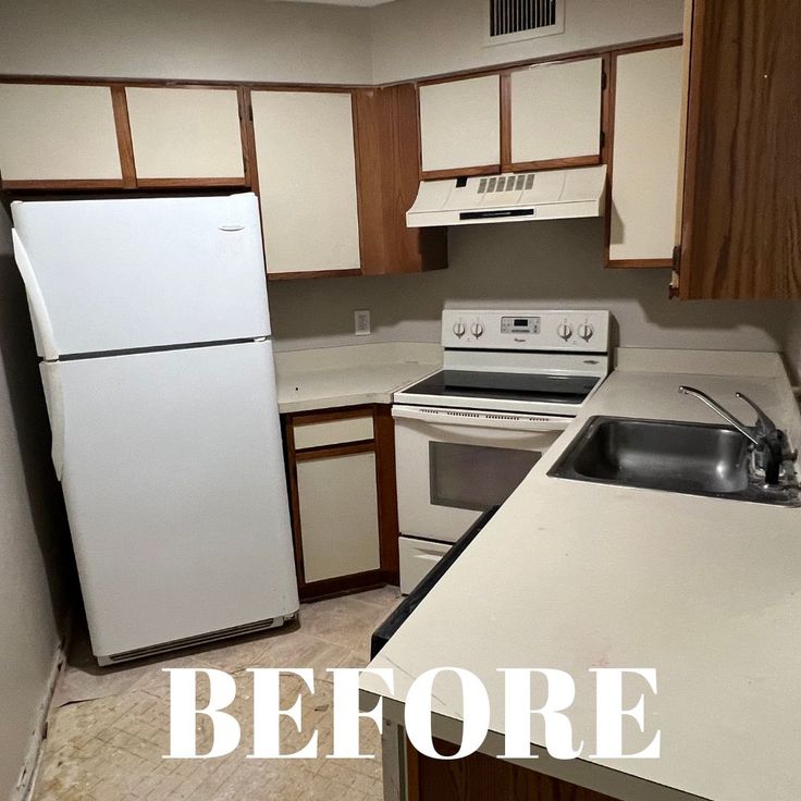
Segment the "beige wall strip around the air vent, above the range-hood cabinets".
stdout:
[[488,47],[488,0],[397,0],[370,11],[378,83],[681,33],[683,0],[566,0],[565,33]]

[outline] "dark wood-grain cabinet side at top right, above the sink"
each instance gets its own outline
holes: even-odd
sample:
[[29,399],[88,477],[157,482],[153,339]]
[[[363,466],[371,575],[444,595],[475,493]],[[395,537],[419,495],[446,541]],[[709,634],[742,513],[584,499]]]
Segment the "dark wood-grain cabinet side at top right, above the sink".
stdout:
[[801,3],[695,0],[680,296],[801,297]]

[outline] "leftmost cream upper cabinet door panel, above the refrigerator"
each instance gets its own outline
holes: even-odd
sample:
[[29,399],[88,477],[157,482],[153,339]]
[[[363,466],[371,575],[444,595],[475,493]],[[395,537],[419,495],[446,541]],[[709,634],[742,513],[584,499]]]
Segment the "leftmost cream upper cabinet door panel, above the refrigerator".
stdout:
[[3,181],[120,181],[108,86],[0,84]]

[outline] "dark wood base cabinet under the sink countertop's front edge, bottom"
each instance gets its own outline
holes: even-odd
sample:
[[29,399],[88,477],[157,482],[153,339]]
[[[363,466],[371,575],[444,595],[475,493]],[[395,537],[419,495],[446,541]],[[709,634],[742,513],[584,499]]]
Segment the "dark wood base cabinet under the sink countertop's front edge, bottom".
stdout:
[[[454,754],[456,747],[440,740],[439,753]],[[615,801],[594,790],[476,753],[464,760],[432,760],[406,750],[407,801]]]

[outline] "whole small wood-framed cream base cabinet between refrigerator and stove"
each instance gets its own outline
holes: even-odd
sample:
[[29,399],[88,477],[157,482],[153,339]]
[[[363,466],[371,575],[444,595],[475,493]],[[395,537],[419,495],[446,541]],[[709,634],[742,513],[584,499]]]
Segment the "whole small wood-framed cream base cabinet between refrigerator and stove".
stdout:
[[397,583],[389,407],[287,415],[284,433],[300,596]]

